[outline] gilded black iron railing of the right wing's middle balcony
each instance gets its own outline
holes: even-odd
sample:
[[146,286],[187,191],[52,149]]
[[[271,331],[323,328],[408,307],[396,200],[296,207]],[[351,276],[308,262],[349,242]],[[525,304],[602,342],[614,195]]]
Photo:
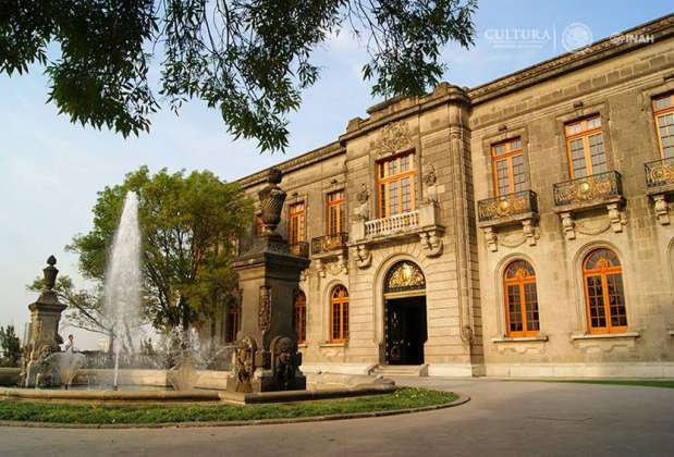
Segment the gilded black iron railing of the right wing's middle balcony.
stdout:
[[564,207],[623,195],[621,174],[616,171],[556,183],[553,186],[554,205]]

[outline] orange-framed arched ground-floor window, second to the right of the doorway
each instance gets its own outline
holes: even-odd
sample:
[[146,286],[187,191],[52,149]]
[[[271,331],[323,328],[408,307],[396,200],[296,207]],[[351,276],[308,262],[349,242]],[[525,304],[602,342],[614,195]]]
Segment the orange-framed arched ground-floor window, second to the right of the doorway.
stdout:
[[596,249],[583,263],[585,302],[591,333],[627,331],[623,268],[615,252]]

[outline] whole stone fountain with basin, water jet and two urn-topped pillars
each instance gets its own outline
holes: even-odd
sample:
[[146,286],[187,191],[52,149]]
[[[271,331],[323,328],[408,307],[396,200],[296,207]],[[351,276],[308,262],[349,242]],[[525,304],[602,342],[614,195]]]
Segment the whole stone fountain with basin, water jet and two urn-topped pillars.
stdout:
[[[16,372],[26,387],[61,384],[65,390],[3,388],[0,398],[40,398],[94,402],[234,402],[238,404],[307,400],[390,393],[392,381],[366,375],[318,373],[307,376],[299,369],[302,354],[293,321],[293,292],[309,261],[294,256],[275,233],[285,192],[279,187],[282,173],[272,169],[268,185],[259,193],[264,235],[233,261],[242,289],[242,326],[234,346],[204,357],[198,338],[184,329],[169,334],[164,356],[169,363],[151,369],[120,370],[122,347],[134,354],[140,321],[140,230],[138,198],[124,198],[106,271],[103,307],[113,324],[114,370],[83,368],[85,356],[72,349],[61,351],[59,320],[65,306],[52,291],[58,270],[56,259],[45,268],[45,291],[30,309],[30,337],[24,353],[24,368]],[[180,297],[177,298],[180,299]],[[211,348],[212,349],[212,348]],[[124,354],[125,356],[126,354]],[[224,370],[204,370],[217,358],[231,356]],[[156,357],[155,361],[161,358]],[[133,357],[131,357],[133,359]],[[131,360],[130,359],[130,360]],[[170,369],[166,369],[171,366]],[[94,382],[91,382],[94,380]],[[112,382],[111,382],[112,381]],[[87,390],[69,390],[70,385]],[[112,385],[112,391],[89,388]],[[120,385],[130,385],[126,392]],[[171,388],[172,387],[172,388]],[[307,388],[308,387],[308,388]]]

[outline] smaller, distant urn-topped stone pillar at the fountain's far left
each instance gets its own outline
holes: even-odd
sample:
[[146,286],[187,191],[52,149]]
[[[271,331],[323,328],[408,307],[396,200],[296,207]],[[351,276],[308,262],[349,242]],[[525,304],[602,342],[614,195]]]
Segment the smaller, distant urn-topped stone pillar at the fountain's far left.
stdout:
[[26,387],[36,385],[37,375],[41,371],[45,359],[50,354],[59,351],[59,345],[63,342],[59,336],[59,322],[61,321],[61,312],[68,307],[59,302],[59,298],[53,292],[59,274],[59,270],[54,267],[56,257],[49,256],[47,263],[47,268],[42,270],[45,289],[34,304],[28,305],[30,326],[28,345],[24,348],[22,372],[22,383]]

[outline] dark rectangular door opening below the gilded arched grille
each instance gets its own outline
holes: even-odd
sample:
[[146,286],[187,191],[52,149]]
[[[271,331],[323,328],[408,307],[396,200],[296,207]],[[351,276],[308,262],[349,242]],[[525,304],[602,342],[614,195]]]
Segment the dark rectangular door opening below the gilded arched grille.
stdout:
[[385,300],[387,362],[424,363],[426,343],[426,297]]

